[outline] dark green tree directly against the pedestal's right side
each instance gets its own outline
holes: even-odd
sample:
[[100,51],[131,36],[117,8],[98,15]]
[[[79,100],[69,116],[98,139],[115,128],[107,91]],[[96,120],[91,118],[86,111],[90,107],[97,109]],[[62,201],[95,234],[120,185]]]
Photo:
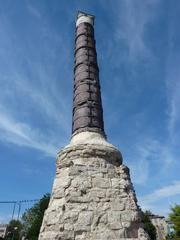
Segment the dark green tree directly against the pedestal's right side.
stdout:
[[152,224],[149,215],[152,213],[150,211],[145,211],[142,213],[142,222],[144,224],[144,230],[148,233],[151,240],[156,240],[156,228]]

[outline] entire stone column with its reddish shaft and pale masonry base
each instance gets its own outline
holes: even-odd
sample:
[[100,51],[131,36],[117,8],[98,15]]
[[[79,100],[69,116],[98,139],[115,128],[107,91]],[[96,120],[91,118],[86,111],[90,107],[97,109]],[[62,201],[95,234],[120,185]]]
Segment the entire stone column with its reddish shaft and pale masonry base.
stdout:
[[105,138],[94,18],[78,16],[73,136],[58,153],[39,240],[147,240],[129,169]]

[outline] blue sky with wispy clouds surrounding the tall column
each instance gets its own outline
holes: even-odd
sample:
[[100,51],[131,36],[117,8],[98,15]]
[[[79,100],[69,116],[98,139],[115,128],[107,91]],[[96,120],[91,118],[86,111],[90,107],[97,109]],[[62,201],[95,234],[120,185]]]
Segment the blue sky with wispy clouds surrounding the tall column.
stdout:
[[[96,16],[105,131],[143,209],[180,199],[180,1],[0,2],[0,201],[51,191],[71,136],[78,10]],[[24,208],[28,206],[23,206]],[[12,206],[0,205],[0,221]]]

